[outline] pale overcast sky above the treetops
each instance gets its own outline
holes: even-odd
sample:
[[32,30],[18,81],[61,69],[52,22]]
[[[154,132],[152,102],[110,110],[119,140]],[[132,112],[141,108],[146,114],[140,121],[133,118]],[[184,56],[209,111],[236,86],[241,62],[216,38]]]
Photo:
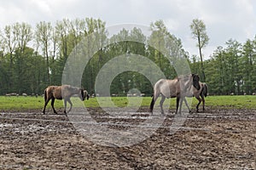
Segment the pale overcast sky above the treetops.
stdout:
[[39,21],[85,17],[106,21],[107,26],[149,26],[164,20],[190,56],[198,55],[198,48],[189,25],[193,19],[203,20],[210,38],[203,49],[206,59],[230,38],[245,42],[256,34],[255,0],[0,0],[1,28],[15,22],[35,26]]

